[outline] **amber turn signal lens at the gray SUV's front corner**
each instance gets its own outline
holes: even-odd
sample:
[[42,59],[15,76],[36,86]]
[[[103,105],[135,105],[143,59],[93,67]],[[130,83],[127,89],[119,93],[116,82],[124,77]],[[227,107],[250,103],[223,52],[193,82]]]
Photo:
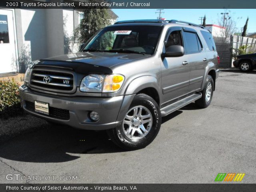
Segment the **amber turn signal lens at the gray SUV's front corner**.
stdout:
[[107,75],[105,77],[104,86],[102,92],[116,92],[118,91],[124,82],[124,76],[119,74]]

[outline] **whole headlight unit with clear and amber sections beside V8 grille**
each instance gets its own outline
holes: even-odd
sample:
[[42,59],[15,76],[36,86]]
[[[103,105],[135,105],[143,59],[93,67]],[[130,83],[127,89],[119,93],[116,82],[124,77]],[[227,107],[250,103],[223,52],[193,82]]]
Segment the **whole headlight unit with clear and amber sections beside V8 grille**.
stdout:
[[[104,82],[104,85],[103,85]],[[91,74],[82,79],[80,91],[82,92],[116,92],[120,90],[124,76],[119,74],[98,75]]]

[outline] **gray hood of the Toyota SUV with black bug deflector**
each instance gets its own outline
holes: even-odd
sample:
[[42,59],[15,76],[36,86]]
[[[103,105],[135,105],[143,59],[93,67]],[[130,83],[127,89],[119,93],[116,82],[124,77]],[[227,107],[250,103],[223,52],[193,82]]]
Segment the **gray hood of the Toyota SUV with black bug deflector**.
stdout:
[[111,68],[115,65],[149,56],[150,55],[114,52],[78,52],[42,59],[39,63],[35,64],[34,67],[54,66],[56,68],[69,68],[76,72],[111,73]]

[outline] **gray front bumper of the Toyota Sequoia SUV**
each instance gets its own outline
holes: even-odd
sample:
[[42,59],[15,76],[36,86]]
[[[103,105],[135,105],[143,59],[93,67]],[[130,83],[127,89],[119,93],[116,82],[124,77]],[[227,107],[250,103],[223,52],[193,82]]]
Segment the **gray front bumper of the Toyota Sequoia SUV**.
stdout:
[[[65,97],[34,92],[25,85],[19,88],[22,108],[29,114],[45,120],[66,124],[75,128],[86,130],[105,130],[118,126],[127,112],[134,95],[116,97]],[[50,107],[50,115],[35,112],[28,108],[28,103],[34,101],[46,102]],[[69,112],[68,118],[51,116],[51,108]],[[89,117],[91,111],[96,111],[100,119],[96,122]]]

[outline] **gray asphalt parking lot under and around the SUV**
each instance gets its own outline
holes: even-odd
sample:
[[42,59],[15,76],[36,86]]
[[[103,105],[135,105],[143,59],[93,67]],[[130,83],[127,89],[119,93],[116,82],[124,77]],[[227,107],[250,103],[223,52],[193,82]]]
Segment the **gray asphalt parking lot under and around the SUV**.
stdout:
[[0,182],[25,183],[6,180],[20,174],[78,176],[28,183],[214,183],[218,173],[245,173],[242,183],[255,183],[255,160],[256,71],[222,70],[212,104],[164,118],[148,147],[125,152],[105,132],[42,126],[0,144]]

